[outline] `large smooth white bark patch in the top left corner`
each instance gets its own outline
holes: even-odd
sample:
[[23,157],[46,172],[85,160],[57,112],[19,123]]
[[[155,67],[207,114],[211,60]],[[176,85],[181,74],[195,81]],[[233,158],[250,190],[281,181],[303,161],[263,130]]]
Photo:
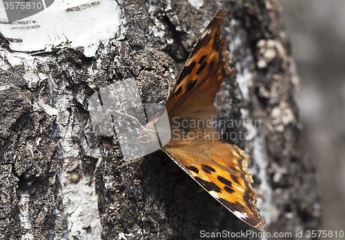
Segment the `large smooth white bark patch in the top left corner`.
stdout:
[[8,23],[5,19],[5,11],[0,11],[0,32],[10,39],[11,50],[49,52],[52,47],[67,45],[83,47],[88,57],[95,56],[99,43],[114,38],[121,24],[119,6],[112,0],[56,0],[22,21]]

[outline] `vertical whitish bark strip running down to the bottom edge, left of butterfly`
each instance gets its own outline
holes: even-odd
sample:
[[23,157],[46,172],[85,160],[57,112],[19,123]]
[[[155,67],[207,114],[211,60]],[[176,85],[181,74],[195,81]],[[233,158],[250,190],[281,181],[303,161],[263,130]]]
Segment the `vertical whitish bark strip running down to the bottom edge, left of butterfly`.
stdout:
[[[62,107],[63,105],[58,106]],[[82,131],[77,126],[79,126],[78,122],[71,119],[67,126],[59,124],[60,131],[64,136],[60,141],[63,147],[64,162],[61,171],[59,171],[64,207],[62,214],[66,216],[68,221],[69,239],[101,240],[102,226],[99,218],[95,181],[90,184],[90,179],[83,174],[80,176],[79,182],[73,183],[68,178],[68,173],[81,165],[79,148],[75,146],[72,139],[77,132]],[[99,152],[88,153],[88,155],[96,157]]]

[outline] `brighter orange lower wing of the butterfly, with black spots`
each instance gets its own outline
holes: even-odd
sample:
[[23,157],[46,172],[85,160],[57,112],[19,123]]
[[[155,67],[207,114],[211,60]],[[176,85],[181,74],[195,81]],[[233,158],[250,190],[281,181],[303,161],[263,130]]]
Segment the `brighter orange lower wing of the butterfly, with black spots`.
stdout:
[[255,207],[256,190],[248,172],[248,155],[231,144],[212,140],[172,141],[163,149],[188,175],[239,219],[259,230],[265,220]]

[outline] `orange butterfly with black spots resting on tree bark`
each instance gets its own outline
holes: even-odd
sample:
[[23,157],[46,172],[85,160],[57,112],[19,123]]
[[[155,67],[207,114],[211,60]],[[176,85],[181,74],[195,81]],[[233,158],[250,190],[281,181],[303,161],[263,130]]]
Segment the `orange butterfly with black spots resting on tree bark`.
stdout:
[[255,207],[258,194],[250,185],[248,155],[238,146],[207,138],[215,133],[212,126],[181,124],[212,121],[217,116],[215,96],[234,71],[228,66],[226,41],[221,37],[226,14],[218,10],[210,21],[168,97],[172,139],[161,150],[239,219],[264,230],[265,220]]

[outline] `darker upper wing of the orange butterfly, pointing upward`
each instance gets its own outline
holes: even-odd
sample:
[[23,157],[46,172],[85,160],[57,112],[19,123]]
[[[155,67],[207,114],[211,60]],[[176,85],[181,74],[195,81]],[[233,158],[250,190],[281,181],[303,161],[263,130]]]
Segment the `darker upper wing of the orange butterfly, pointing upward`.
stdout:
[[217,114],[213,107],[215,96],[221,83],[233,72],[228,66],[226,41],[221,37],[226,13],[218,10],[190,53],[166,102],[169,116],[186,118],[193,115],[204,119]]

